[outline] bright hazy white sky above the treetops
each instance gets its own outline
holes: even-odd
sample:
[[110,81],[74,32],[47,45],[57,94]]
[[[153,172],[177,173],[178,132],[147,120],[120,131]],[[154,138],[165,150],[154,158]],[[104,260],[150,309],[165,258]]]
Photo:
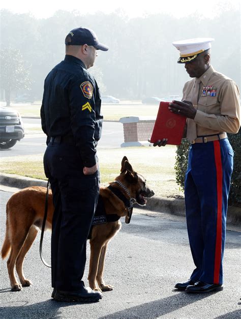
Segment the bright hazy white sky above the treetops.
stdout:
[[57,2],[51,0],[5,0],[4,4],[2,2],[1,8],[8,9],[13,13],[31,13],[36,18],[48,18],[57,10],[77,10],[80,14],[85,14],[96,11],[111,13],[117,9],[125,11],[130,18],[161,12],[182,17],[195,11],[210,18],[215,17],[224,4],[236,10],[240,9],[240,0],[192,0],[190,2],[180,0],[58,0]]

